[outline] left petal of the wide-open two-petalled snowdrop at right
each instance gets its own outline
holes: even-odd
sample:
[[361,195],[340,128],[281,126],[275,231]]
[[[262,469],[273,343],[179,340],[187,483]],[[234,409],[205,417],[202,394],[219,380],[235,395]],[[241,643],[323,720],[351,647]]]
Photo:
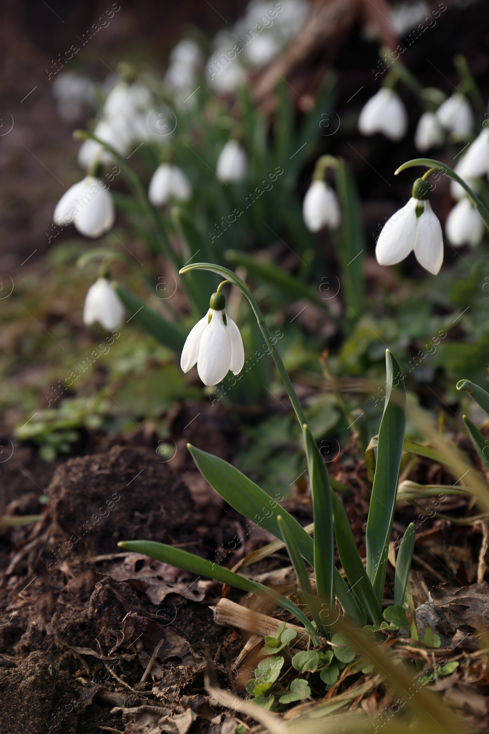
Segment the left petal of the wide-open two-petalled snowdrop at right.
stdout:
[[395,265],[407,258],[416,240],[417,199],[411,199],[383,226],[375,246],[380,265]]

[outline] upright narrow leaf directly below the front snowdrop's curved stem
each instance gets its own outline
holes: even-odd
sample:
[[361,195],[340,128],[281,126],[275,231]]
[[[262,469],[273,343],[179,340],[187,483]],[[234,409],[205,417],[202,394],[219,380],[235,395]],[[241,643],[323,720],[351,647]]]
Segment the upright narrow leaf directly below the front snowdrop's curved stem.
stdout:
[[306,449],[315,525],[314,570],[317,596],[320,599],[324,599],[328,603],[328,606],[331,607],[334,600],[332,490],[326,464],[323,462],[311,430],[307,424],[304,424],[302,427],[304,430],[304,448]]

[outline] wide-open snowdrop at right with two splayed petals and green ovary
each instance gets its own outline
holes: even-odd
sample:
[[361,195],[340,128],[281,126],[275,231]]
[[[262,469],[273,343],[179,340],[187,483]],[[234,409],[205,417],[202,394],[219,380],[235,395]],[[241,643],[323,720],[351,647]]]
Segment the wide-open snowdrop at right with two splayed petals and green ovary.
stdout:
[[414,250],[416,260],[433,275],[443,263],[443,235],[428,201],[430,183],[417,178],[408,203],[386,222],[378,236],[375,257],[380,265],[395,265]]

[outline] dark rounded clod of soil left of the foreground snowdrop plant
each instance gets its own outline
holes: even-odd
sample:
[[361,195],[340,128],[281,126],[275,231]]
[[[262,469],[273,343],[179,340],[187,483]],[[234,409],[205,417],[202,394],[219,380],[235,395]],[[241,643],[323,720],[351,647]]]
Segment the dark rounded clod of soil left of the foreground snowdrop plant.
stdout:
[[122,539],[171,543],[175,533],[186,532],[191,539],[194,529],[188,488],[145,448],[114,446],[107,454],[70,459],[54,473],[47,494],[53,562],[68,552],[117,553]]

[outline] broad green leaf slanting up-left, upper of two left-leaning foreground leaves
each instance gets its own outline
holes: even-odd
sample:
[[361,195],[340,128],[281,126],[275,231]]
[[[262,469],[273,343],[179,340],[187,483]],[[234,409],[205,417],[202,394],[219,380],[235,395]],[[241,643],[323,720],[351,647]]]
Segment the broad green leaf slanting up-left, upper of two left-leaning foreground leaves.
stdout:
[[[277,493],[276,501],[274,501],[257,484],[251,482],[251,479],[228,462],[225,462],[224,459],[219,459],[213,454],[207,454],[206,451],[201,451],[199,448],[191,446],[191,444],[188,444],[188,450],[204,479],[237,512],[249,517],[252,521],[251,525],[253,522],[257,523],[276,538],[282,539],[279,524],[276,520],[277,515],[282,515],[301,552],[301,556],[314,567],[314,542],[312,537],[306,533],[292,515],[289,515],[287,510],[279,506],[278,501],[282,501],[283,495]],[[248,523],[246,523],[245,529],[248,530]],[[353,621],[363,625],[361,611],[353,595],[348,592],[348,586],[337,568],[334,568],[334,592],[345,610],[345,614]]]

